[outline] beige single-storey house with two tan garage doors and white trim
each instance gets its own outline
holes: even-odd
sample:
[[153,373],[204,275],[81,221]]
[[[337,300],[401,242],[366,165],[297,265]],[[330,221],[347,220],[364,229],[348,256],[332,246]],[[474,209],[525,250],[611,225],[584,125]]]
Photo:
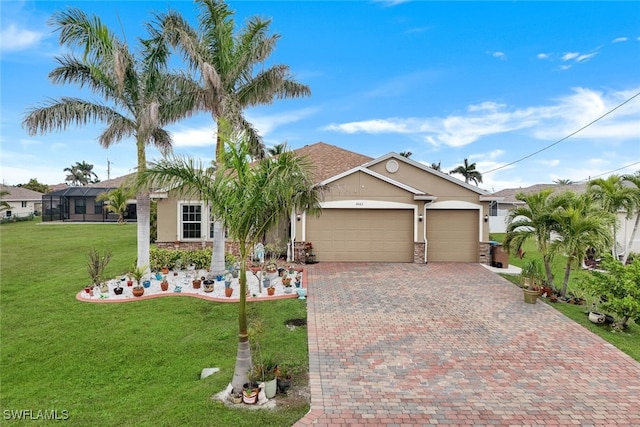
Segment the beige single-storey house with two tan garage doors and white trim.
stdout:
[[[325,143],[295,150],[326,186],[320,217],[292,212],[276,235],[295,259],[311,244],[317,261],[455,261],[489,264],[489,202],[473,185],[389,153],[372,159]],[[159,247],[210,246],[205,203],[168,192],[158,201]]]

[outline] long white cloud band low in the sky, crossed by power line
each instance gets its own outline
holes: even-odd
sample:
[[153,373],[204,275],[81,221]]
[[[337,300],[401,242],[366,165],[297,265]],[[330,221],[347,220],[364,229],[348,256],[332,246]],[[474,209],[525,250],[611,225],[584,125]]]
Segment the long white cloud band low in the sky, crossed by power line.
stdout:
[[[575,88],[549,105],[508,108],[504,104],[487,101],[471,105],[468,114],[447,117],[393,117],[347,123],[333,123],[324,130],[355,134],[409,134],[438,147],[462,147],[490,135],[520,130],[530,136],[554,141],[567,136],[595,120],[637,93],[640,88],[620,92],[601,93]],[[574,138],[605,140],[638,139],[637,116],[640,102],[632,101],[614,114],[579,132]]]

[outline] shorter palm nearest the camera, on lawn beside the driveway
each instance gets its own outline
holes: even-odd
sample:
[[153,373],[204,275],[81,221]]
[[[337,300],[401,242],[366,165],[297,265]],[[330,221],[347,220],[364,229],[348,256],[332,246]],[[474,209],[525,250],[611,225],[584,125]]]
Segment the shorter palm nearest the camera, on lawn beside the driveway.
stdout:
[[143,174],[154,185],[171,186],[185,195],[197,195],[210,203],[212,211],[227,227],[240,249],[240,303],[238,352],[232,385],[242,389],[252,367],[247,328],[247,262],[250,250],[292,209],[313,214],[320,209],[320,189],[313,187],[311,165],[288,151],[277,158],[251,161],[250,140],[228,140],[222,167],[215,172],[191,159],[166,159]]

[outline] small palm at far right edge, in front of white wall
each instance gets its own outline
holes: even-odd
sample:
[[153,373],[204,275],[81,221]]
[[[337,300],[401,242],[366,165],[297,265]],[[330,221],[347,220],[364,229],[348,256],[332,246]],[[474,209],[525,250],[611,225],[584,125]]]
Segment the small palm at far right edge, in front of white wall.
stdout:
[[[606,212],[614,215],[618,211],[624,210],[627,218],[631,218],[635,207],[634,192],[631,188],[623,185],[622,178],[619,175],[610,175],[608,178],[598,178],[589,181],[588,193],[594,200],[598,201]],[[618,256],[618,218],[614,221],[612,227],[613,244],[611,254],[615,259]]]

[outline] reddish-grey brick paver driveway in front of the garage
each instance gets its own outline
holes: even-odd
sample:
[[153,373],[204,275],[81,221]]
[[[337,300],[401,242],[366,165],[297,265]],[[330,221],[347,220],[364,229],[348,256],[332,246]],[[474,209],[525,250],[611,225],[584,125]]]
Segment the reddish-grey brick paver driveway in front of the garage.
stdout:
[[297,426],[640,426],[640,364],[480,265],[308,273]]

